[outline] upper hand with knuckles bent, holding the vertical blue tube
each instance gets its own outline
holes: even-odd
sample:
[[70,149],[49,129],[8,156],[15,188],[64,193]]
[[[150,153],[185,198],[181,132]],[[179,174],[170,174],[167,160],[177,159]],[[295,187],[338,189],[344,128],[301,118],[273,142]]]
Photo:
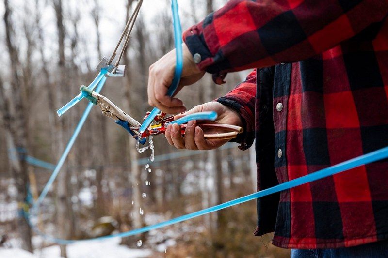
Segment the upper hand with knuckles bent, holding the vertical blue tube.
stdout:
[[[183,86],[191,85],[198,81],[205,72],[198,69],[194,63],[193,56],[183,43],[183,71],[177,91]],[[181,113],[186,111],[183,102],[178,98],[167,96],[167,89],[171,85],[176,67],[175,49],[164,55],[149,67],[148,77],[148,103],[166,113]]]

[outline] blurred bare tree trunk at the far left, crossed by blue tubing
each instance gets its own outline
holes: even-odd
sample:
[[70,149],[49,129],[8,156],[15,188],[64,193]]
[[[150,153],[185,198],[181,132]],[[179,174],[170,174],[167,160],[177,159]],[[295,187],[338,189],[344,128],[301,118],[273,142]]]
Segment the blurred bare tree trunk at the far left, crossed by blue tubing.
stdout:
[[[13,28],[11,21],[11,9],[9,6],[8,0],[4,0],[4,23],[5,23],[5,31],[6,31],[6,45],[9,53],[9,57],[11,60],[11,73],[12,73],[12,81],[11,81],[11,89],[13,93],[12,99],[12,107],[11,102],[6,101],[6,96],[3,92],[2,84],[1,87],[1,100],[0,103],[4,105],[4,113],[3,121],[4,128],[8,135],[7,137],[7,145],[11,150],[19,147],[27,149],[28,144],[28,129],[26,125],[28,124],[27,113],[26,113],[26,89],[25,85],[23,85],[22,80],[18,74],[18,70],[20,67],[19,57],[17,54],[16,47],[13,43]],[[24,159],[24,156],[21,157],[20,160],[15,160],[11,162],[11,170],[12,174],[15,178],[16,188],[17,188],[17,201],[20,204],[24,204],[26,202],[27,194],[28,194],[28,166]],[[17,218],[17,230],[19,236],[22,240],[22,248],[32,252],[32,243],[31,243],[31,228],[28,224],[28,221],[25,217],[19,216]]]

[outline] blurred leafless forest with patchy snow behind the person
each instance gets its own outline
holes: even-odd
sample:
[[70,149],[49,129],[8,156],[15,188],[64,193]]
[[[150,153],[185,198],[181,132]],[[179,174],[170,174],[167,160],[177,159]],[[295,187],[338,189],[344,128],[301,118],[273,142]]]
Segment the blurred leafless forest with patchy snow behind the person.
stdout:
[[[57,163],[87,102],[61,118],[56,110],[96,76],[94,67],[110,56],[135,3],[0,2],[0,254],[21,248],[45,257],[42,250],[54,246],[34,234],[20,211],[27,209],[28,197],[42,191],[52,172],[49,164]],[[178,3],[187,29],[226,1]],[[145,0],[123,58],[127,75],[109,78],[102,94],[142,121],[150,110],[148,67],[173,48],[170,1]],[[194,107],[223,96],[248,72],[229,74],[224,86],[207,75],[178,96],[188,108]],[[154,142],[156,161],[148,168],[150,153],[136,152],[135,142],[93,108],[42,205],[38,227],[55,237],[86,239],[140,228],[256,191],[253,148],[242,152],[230,143],[208,152],[176,150],[159,136]],[[33,166],[31,157],[49,164]],[[132,248],[132,253],[136,248],[147,250],[143,255],[161,257],[289,255],[270,244],[271,234],[254,237],[255,225],[256,203],[251,201],[117,244]],[[58,248],[61,256],[72,257],[65,245]]]

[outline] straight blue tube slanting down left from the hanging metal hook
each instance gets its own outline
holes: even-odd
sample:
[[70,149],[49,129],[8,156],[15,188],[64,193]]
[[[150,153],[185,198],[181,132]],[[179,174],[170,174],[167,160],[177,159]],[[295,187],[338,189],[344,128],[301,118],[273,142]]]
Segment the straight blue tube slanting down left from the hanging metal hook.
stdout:
[[[101,70],[101,73],[102,73],[102,70]],[[104,87],[105,81],[106,81],[106,77],[102,76],[102,78],[98,82],[98,86],[96,89],[97,93],[99,93],[102,90],[102,87]],[[77,125],[76,129],[74,130],[73,135],[70,137],[70,140],[67,143],[66,149],[65,149],[64,153],[62,154],[61,158],[59,159],[58,164],[55,167],[54,171],[52,172],[52,174],[49,178],[49,181],[45,185],[45,188],[43,188],[43,191],[40,194],[38,200],[33,204],[33,206],[32,206],[33,211],[37,211],[39,205],[42,203],[43,199],[47,196],[47,193],[49,192],[51,185],[53,184],[55,178],[58,176],[62,166],[64,165],[65,160],[67,158],[67,155],[69,154],[71,148],[73,147],[74,142],[76,141],[78,134],[80,133],[81,128],[82,128],[83,124],[85,123],[86,118],[88,117],[93,106],[94,105],[92,103],[89,103],[88,106],[86,107],[85,111],[83,112],[81,120],[78,122],[78,125]]]

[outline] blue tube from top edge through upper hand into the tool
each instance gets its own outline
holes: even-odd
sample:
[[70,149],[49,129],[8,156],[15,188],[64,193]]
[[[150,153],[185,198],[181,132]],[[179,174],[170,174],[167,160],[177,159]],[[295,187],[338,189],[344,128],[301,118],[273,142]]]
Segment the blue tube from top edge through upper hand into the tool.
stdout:
[[[167,95],[172,96],[174,92],[177,90],[180,77],[182,75],[183,70],[183,49],[182,49],[182,28],[180,26],[180,19],[179,19],[179,13],[178,13],[178,2],[177,0],[171,1],[171,10],[173,13],[173,24],[174,24],[174,37],[175,37],[175,49],[176,49],[176,55],[177,55],[177,64],[175,66],[175,74],[173,82],[171,83],[170,87],[168,87]],[[147,119],[143,122],[142,126],[140,127],[140,133],[143,133],[146,131],[148,125],[154,120],[156,115],[160,110],[158,108],[152,109],[151,113],[147,117]]]

